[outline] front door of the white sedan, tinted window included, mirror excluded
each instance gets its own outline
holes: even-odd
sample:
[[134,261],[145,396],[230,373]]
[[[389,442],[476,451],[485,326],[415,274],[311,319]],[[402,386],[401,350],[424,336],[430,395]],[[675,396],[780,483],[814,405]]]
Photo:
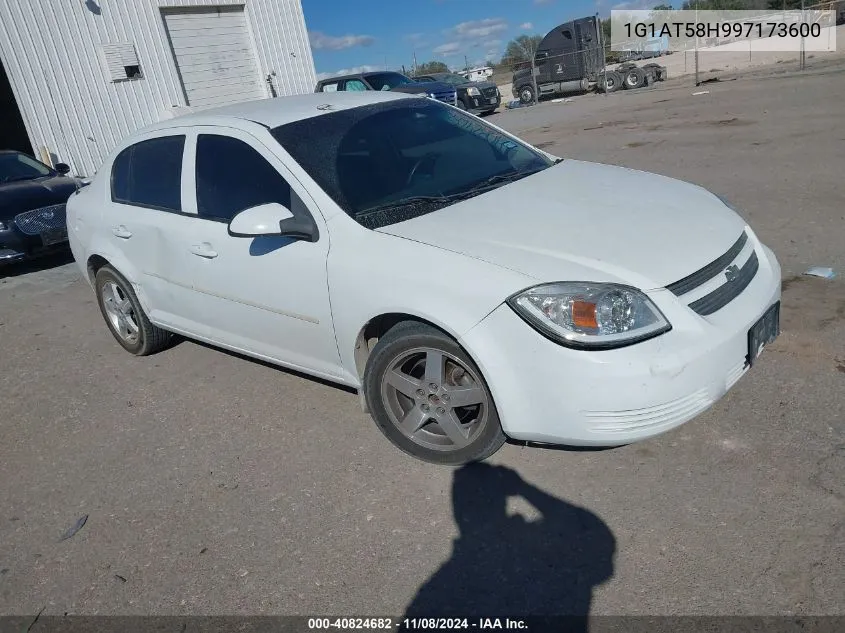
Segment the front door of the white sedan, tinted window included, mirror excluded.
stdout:
[[[279,158],[245,131],[198,128],[188,154],[197,211],[189,245],[195,318],[214,343],[339,376],[326,273],[329,235],[313,200]],[[238,212],[267,203],[310,214],[317,241],[229,234]]]

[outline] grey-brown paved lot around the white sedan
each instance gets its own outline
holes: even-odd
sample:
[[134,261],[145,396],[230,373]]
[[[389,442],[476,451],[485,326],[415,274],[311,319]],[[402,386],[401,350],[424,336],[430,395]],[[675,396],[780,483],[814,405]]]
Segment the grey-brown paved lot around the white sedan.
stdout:
[[845,614],[845,81],[708,88],[492,119],[725,194],[782,260],[782,337],[640,444],[429,466],[342,389],[191,342],[128,356],[61,260],[0,278],[0,613]]

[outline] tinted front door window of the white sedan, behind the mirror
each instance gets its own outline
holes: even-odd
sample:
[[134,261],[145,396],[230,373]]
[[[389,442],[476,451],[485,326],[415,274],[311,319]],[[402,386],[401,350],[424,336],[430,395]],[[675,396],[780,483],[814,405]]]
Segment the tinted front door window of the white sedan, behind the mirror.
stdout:
[[290,185],[264,157],[230,136],[197,138],[197,212],[229,221],[260,204],[278,202],[290,209]]

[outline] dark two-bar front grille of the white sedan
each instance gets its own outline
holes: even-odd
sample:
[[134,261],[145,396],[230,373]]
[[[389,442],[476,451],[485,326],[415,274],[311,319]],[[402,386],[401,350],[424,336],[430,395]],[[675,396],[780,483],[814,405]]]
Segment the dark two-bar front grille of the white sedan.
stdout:
[[[675,296],[685,295],[699,286],[706,284],[711,279],[718,277],[726,272],[728,266],[736,260],[742,253],[748,242],[748,234],[743,231],[739,239],[731,246],[724,255],[718,257],[714,261],[707,264],[701,270],[684,277],[683,279],[669,284],[667,288],[675,294]],[[702,316],[713,314],[721,310],[731,301],[736,299],[743,290],[748,287],[748,284],[754,279],[757,271],[760,268],[760,261],[757,258],[757,253],[752,252],[751,255],[742,264],[742,267],[735,270],[733,278],[726,281],[724,284],[713,290],[712,292],[700,297],[689,304],[689,307]]]

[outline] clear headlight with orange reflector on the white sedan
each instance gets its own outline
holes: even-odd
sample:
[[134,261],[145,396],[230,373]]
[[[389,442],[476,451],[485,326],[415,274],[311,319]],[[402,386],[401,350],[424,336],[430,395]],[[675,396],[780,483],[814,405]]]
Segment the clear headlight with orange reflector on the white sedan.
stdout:
[[576,349],[624,347],[672,329],[642,292],[617,284],[543,284],[508,305],[544,336]]

